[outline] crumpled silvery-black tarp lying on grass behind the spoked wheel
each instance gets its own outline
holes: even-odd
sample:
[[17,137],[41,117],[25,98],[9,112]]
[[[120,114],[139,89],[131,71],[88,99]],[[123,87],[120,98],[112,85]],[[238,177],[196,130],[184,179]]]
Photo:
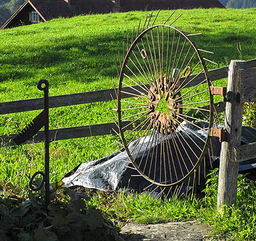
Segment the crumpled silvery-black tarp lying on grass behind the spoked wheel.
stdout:
[[[195,143],[192,141],[193,139],[200,146],[203,144],[203,142],[200,139],[202,138],[205,140],[207,135],[205,131],[202,131],[202,129],[206,129],[207,127],[205,127],[204,123],[201,123],[201,122],[197,123],[197,126],[200,128],[197,128],[194,125],[190,125],[186,122],[183,122],[178,127],[178,130],[182,129],[182,131],[180,131],[179,133],[181,133],[183,137],[182,138],[179,136],[177,137],[177,135],[174,134],[173,136],[168,135],[168,139],[175,138],[176,139],[175,141],[179,144],[182,144],[180,142],[182,142],[182,140],[184,139],[189,142],[190,147],[192,149],[193,149],[193,145],[195,145]],[[184,133],[184,131],[186,133]],[[154,138],[158,138],[157,135],[153,137],[153,140]],[[142,148],[140,148],[140,150],[137,150],[138,155],[135,161],[137,160],[141,161],[141,157],[143,153],[148,151],[148,146],[150,145],[148,145],[147,143],[149,140],[150,140],[149,136],[145,137]],[[151,141],[153,140],[151,139]],[[158,138],[158,140],[160,140],[160,138]],[[136,147],[137,141],[141,141],[141,139],[134,140],[131,143],[131,148],[133,148],[134,146]],[[256,142],[256,129],[243,126],[241,144],[248,144],[252,142]],[[157,143],[160,144],[159,141]],[[158,152],[159,150],[160,148],[158,149]],[[187,150],[189,149],[187,148]],[[197,150],[197,148],[194,148],[194,150]],[[212,168],[219,166],[221,143],[219,142],[218,138],[211,137],[210,150],[211,151],[206,152],[204,165],[200,166],[202,170],[200,171],[200,177],[197,177],[197,183],[200,184],[199,189],[204,188],[206,175],[209,173],[209,171]],[[134,153],[137,153],[137,151],[135,151]],[[154,155],[159,155],[159,153],[152,152],[149,155],[154,156]],[[143,163],[143,160],[142,160],[142,163]],[[129,168],[129,167],[132,167],[132,168]],[[255,170],[256,170],[256,159],[240,162],[240,172],[251,173],[250,177],[252,179],[255,178],[255,174],[256,174]],[[160,172],[160,170],[157,170],[157,172]],[[156,185],[152,185],[151,182],[147,181],[142,176],[138,176],[138,174],[139,173],[133,169],[133,165],[132,163],[130,163],[130,159],[126,154],[126,151],[122,149],[118,152],[115,152],[109,156],[103,157],[96,161],[81,163],[72,172],[68,173],[62,179],[62,182],[66,187],[83,186],[83,187],[95,188],[99,190],[119,190],[122,188],[126,188],[126,189],[128,188],[128,189],[133,189],[135,191],[141,192],[148,186],[150,186],[150,190],[156,190],[155,189],[157,188]],[[188,182],[189,180],[185,181],[183,188],[187,188],[187,186],[189,186]]]

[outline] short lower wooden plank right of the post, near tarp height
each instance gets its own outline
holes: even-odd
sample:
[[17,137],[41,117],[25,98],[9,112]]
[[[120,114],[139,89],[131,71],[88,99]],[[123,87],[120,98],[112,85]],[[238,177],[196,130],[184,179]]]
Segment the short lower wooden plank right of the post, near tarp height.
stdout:
[[234,161],[246,161],[256,158],[256,142],[233,148]]

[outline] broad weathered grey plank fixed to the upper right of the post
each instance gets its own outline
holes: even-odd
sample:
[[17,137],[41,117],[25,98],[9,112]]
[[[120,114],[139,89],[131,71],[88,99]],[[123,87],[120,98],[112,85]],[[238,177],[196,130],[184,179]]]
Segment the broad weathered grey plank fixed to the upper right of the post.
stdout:
[[240,69],[239,79],[240,101],[256,102],[256,68]]

